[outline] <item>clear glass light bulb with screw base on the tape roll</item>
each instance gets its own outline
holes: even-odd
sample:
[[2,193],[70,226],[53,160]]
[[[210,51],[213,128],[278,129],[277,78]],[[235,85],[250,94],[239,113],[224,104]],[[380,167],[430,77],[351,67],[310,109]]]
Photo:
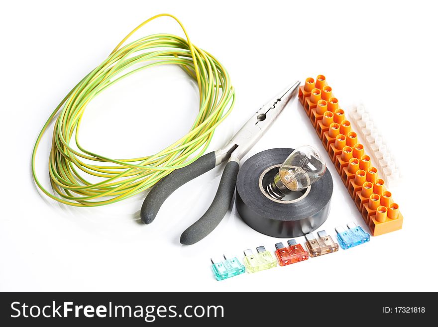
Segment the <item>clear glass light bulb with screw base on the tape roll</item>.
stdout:
[[283,162],[266,191],[273,198],[281,200],[291,192],[308,188],[323,177],[325,172],[326,163],[317,149],[302,145]]

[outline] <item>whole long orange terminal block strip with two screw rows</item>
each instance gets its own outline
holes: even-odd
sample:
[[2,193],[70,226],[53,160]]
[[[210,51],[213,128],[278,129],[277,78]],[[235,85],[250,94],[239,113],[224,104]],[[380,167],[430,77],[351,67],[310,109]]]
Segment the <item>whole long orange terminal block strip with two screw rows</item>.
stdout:
[[[300,87],[299,99],[371,233],[380,235],[402,228],[403,216],[398,204],[393,203],[391,192],[378,178],[380,172],[371,166],[370,156],[358,143],[357,133],[345,119],[326,77],[306,79]],[[320,100],[326,106],[324,103],[318,106]]]

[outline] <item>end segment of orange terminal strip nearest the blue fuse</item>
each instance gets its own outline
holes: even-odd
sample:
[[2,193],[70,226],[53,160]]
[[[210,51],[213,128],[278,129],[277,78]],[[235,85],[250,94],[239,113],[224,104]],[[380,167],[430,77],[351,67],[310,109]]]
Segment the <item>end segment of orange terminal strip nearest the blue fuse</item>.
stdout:
[[370,217],[368,226],[374,236],[401,229],[403,216],[399,211],[399,205],[392,203],[388,208],[379,207],[376,214]]

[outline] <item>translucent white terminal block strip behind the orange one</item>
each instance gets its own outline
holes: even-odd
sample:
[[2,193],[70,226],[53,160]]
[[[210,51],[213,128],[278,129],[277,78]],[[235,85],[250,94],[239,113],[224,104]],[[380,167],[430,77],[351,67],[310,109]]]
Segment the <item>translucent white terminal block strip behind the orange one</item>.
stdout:
[[382,135],[379,134],[365,106],[360,103],[347,108],[351,127],[357,131],[359,139],[368,148],[372,162],[379,172],[379,177],[385,181],[388,188],[396,186],[400,180],[400,172],[394,160],[391,160],[389,147],[385,144]]

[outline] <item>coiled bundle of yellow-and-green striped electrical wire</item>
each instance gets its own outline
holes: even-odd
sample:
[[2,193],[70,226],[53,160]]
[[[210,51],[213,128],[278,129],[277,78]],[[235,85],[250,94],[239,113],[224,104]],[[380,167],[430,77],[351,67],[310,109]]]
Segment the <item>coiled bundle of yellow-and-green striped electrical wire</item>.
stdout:
[[[174,18],[186,39],[172,34],[154,34],[122,46],[140,27],[161,16]],[[186,135],[158,153],[132,159],[111,159],[81,147],[78,134],[82,115],[94,97],[139,70],[167,64],[179,65],[198,82],[199,113]],[[132,30],[52,112],[32,152],[33,178],[47,196],[72,206],[102,206],[126,199],[150,188],[173,170],[198,159],[210,144],[215,128],[233,106],[234,89],[219,61],[191,43],[176,17],[170,14],[153,16]],[[35,155],[42,136],[53,121],[49,158],[51,193],[37,178]],[[76,148],[70,146],[73,136]],[[90,175],[93,181],[88,180]]]

